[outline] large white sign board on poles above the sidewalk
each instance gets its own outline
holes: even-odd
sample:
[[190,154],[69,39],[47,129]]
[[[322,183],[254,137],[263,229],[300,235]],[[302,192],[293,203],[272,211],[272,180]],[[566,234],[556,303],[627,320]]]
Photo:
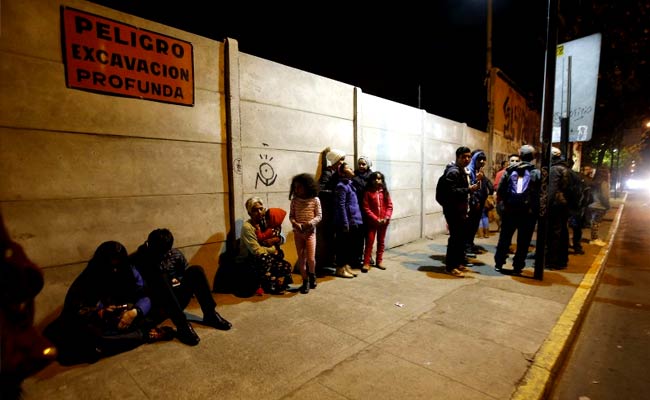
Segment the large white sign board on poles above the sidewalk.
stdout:
[[591,140],[596,110],[600,39],[600,33],[595,33],[557,46],[553,143],[560,142],[560,119],[567,115],[569,142]]

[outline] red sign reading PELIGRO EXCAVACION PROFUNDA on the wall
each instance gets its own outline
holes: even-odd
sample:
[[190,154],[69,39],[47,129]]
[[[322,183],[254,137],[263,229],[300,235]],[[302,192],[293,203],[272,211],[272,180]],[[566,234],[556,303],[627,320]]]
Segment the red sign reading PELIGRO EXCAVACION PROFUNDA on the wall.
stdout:
[[68,7],[61,21],[68,87],[194,105],[191,43]]

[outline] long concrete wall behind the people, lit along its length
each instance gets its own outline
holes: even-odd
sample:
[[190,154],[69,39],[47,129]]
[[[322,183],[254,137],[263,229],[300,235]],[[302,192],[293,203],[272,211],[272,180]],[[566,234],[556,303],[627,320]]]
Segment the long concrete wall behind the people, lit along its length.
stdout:
[[[61,5],[191,42],[192,107],[66,87]],[[395,203],[389,247],[444,231],[435,182],[459,145],[487,134],[362,88],[241,53],[81,0],[5,0],[0,35],[0,209],[14,240],[44,268],[37,321],[105,240],[130,251],[167,227],[211,279],[252,195],[288,209],[291,178],[319,174],[331,146],[366,155]],[[509,146],[495,145],[494,151]],[[295,260],[288,221],[285,245]],[[229,236],[231,235],[231,236]]]

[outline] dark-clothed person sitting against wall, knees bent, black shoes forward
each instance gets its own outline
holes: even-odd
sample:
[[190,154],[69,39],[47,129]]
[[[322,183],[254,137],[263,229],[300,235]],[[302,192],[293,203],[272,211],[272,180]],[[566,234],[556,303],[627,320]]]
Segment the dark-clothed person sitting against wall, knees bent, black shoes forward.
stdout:
[[153,301],[154,320],[170,318],[177,329],[178,339],[190,346],[199,344],[200,338],[187,320],[183,310],[196,296],[203,324],[219,330],[228,330],[232,324],[216,310],[210,284],[200,265],[189,265],[177,248],[173,248],[174,236],[169,229],[155,229],[147,241],[132,256],[136,268],[147,283]]

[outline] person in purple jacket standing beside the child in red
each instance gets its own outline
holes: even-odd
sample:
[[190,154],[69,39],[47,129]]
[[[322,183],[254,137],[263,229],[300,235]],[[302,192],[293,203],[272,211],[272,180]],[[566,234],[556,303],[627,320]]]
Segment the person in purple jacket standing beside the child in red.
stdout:
[[334,225],[336,227],[336,276],[354,278],[357,274],[350,265],[354,265],[357,254],[363,248],[361,226],[363,219],[359,200],[352,184],[354,170],[347,163],[339,166],[339,182],[335,191]]

